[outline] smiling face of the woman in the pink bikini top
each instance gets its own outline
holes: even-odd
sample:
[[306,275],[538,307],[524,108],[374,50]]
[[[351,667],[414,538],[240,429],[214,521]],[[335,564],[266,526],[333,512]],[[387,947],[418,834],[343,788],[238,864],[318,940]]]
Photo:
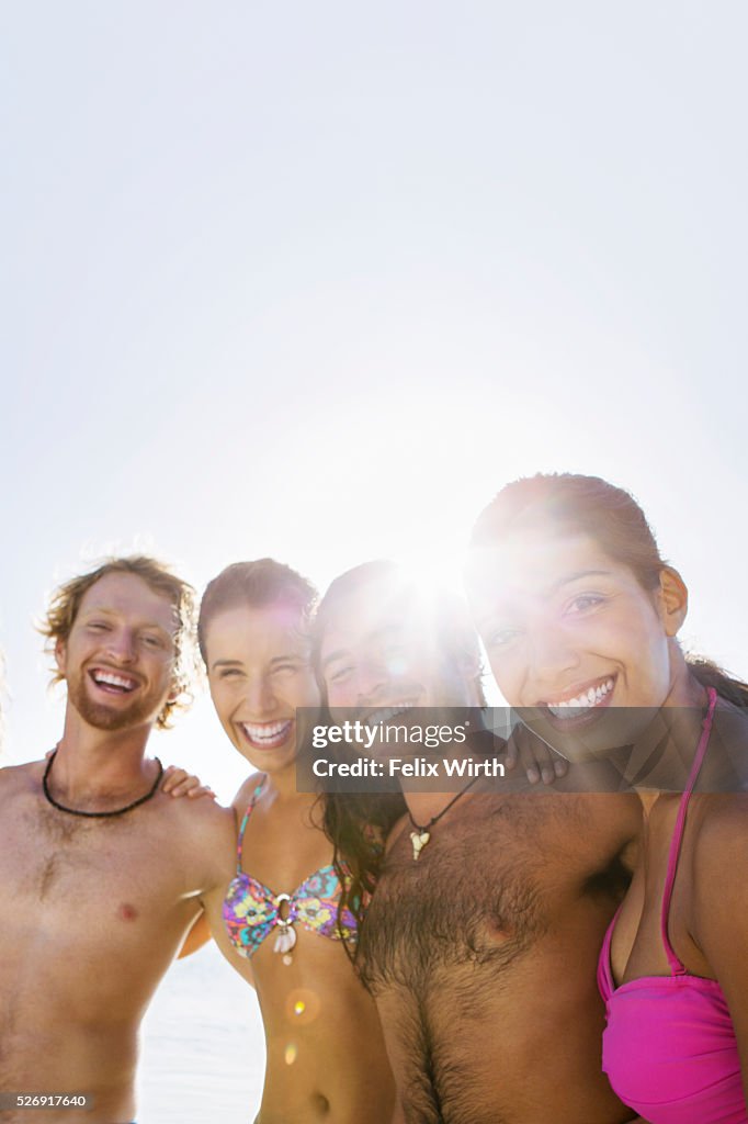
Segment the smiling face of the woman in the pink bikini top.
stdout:
[[673,571],[649,592],[589,535],[526,528],[477,552],[469,587],[504,698],[567,756],[636,740],[667,703],[685,615]]

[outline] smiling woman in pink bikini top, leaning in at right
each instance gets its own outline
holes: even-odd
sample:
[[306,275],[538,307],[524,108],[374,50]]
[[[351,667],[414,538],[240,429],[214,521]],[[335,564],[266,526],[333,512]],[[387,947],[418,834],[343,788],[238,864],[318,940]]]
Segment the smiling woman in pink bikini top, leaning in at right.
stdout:
[[748,687],[684,656],[685,586],[627,492],[539,475],[482,520],[505,581],[481,629],[502,694],[642,800],[600,957],[603,1070],[648,1124],[748,1124]]

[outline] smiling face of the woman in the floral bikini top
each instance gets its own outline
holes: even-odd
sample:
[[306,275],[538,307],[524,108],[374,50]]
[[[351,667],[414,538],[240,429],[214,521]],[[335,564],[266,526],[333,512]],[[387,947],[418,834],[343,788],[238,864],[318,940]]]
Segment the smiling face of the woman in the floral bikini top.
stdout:
[[297,707],[320,705],[303,626],[299,608],[280,601],[226,608],[206,628],[216,713],[239,753],[263,772],[293,764],[308,733],[297,728]]

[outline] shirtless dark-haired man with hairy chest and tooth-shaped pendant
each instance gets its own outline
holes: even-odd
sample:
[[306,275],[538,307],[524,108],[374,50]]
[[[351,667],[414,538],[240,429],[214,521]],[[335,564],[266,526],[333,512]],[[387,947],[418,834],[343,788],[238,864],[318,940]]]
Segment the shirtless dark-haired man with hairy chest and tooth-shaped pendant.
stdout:
[[[480,705],[469,628],[440,627],[382,563],[332,583],[317,631],[334,715]],[[601,1071],[595,966],[639,812],[630,796],[580,795],[575,769],[554,791],[405,792],[410,823],[392,833],[358,967],[408,1124],[633,1117]],[[416,860],[410,834],[425,830]]]

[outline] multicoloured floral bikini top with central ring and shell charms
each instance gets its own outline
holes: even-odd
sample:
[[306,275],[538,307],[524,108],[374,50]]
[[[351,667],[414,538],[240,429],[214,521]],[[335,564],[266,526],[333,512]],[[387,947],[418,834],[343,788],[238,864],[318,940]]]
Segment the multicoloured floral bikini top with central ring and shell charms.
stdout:
[[[255,954],[265,937],[276,930],[273,951],[283,957],[285,964],[290,964],[291,950],[297,943],[293,927],[297,923],[312,933],[319,933],[320,936],[355,944],[358,937],[357,921],[347,907],[344,907],[343,912],[338,908],[341,886],[331,863],[320,867],[291,894],[275,894],[270,887],[241,870],[244,833],[264,782],[263,777],[252,794],[252,800],[241,819],[236,852],[236,877],[229,882],[224,899],[224,924],[231,944],[240,955],[249,958]],[[340,865],[346,891],[350,891],[353,876],[345,863]],[[355,908],[358,899],[354,898],[352,904]]]

